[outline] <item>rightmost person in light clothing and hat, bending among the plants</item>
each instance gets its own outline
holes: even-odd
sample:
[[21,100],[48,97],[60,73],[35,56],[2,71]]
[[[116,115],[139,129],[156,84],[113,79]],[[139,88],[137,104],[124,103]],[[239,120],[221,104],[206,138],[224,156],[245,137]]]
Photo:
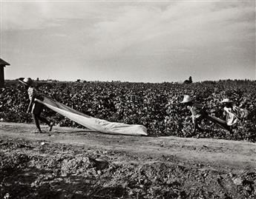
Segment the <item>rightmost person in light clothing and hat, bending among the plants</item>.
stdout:
[[232,129],[237,121],[242,118],[246,118],[249,115],[249,112],[246,109],[240,109],[234,104],[234,101],[231,101],[229,98],[223,99],[220,101],[223,104],[223,115],[226,116],[226,124]]

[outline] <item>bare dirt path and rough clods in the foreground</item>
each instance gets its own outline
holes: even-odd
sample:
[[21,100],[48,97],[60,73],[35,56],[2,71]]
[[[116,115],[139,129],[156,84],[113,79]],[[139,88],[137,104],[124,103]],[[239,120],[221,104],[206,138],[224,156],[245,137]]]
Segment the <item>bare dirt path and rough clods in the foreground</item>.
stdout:
[[0,198],[256,198],[256,144],[0,123]]

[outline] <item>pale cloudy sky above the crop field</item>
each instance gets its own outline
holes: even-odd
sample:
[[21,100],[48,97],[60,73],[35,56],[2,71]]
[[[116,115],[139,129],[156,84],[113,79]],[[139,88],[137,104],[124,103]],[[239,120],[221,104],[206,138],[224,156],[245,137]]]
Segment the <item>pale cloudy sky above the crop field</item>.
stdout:
[[6,79],[256,79],[255,1],[0,1]]

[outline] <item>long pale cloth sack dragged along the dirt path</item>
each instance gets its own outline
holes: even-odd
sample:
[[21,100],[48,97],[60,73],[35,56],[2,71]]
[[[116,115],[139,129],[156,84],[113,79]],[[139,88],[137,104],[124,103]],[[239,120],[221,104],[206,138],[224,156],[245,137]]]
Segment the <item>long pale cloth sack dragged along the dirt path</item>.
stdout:
[[58,112],[60,115],[81,124],[88,129],[92,129],[98,132],[110,133],[110,134],[122,134],[122,135],[148,135],[147,129],[138,124],[123,124],[117,122],[109,122],[98,118],[85,115],[75,109],[65,106],[64,104],[54,101],[47,96],[44,96],[44,101],[36,99],[39,103],[44,104],[49,109]]

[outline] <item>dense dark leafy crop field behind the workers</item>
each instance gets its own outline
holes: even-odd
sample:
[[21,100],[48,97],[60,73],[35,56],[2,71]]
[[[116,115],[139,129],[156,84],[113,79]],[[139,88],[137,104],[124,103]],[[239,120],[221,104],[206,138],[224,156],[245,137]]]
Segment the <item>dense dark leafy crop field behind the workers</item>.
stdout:
[[[193,84],[128,83],[128,82],[53,82],[38,83],[38,90],[85,114],[107,121],[143,124],[149,135],[177,135],[191,132],[191,113],[180,101],[191,95],[205,104],[211,115],[223,118],[220,101],[231,98],[237,106],[249,110],[249,117],[240,121],[230,134],[209,121],[203,121],[199,138],[225,138],[256,141],[256,81],[204,81]],[[7,81],[0,88],[0,118],[3,121],[32,122],[26,114],[27,91],[16,81]],[[45,109],[59,126],[80,127],[79,124]]]

